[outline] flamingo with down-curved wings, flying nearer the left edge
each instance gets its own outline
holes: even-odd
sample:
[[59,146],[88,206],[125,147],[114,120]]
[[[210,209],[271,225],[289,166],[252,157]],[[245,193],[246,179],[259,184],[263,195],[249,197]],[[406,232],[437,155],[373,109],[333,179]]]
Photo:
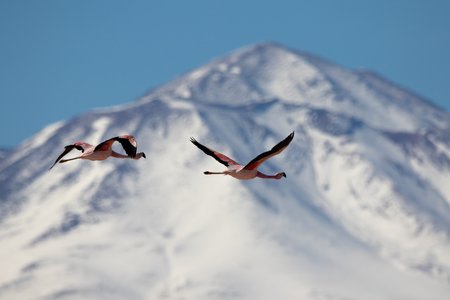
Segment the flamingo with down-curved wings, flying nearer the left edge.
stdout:
[[[123,155],[112,150],[112,144],[114,142],[119,142],[127,155]],[[137,142],[134,136],[132,135],[116,136],[98,144],[97,146],[93,146],[85,142],[76,142],[74,144],[67,145],[64,148],[65,149],[63,153],[61,153],[58,156],[58,158],[55,160],[50,169],[53,168],[58,162],[65,163],[75,159],[105,160],[110,156],[115,158],[132,158],[132,159],[139,159],[141,157],[146,158],[144,152],[136,153]],[[61,159],[73,149],[80,150],[82,154],[74,158]]]

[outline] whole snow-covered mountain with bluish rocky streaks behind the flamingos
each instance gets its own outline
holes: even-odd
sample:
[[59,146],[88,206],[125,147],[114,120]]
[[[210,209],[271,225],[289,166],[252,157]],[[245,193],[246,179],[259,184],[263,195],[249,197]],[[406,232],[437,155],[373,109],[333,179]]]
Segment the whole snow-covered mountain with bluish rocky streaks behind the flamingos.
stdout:
[[[261,170],[246,163],[295,130]],[[64,145],[132,133],[146,160]],[[450,116],[276,44],[51,124],[0,159],[0,299],[448,299]]]

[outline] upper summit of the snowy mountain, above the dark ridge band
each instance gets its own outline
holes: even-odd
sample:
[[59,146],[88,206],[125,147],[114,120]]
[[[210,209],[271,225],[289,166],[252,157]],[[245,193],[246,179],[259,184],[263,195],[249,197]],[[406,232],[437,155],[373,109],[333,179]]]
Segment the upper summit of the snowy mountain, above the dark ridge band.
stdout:
[[[245,107],[277,100],[325,109],[386,130],[449,125],[445,113],[387,80],[274,42],[243,47],[152,91],[154,99]],[[386,120],[386,112],[395,118]]]

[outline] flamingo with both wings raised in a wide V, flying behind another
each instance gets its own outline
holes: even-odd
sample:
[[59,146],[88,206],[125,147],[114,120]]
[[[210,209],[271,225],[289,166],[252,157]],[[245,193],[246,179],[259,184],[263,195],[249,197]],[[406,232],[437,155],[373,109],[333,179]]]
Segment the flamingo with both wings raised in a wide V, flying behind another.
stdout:
[[205,171],[203,174],[205,175],[213,175],[213,174],[224,174],[224,175],[230,175],[236,179],[240,180],[247,180],[247,179],[253,179],[255,177],[259,178],[267,178],[267,179],[281,179],[281,177],[286,177],[286,173],[280,172],[275,175],[266,175],[264,173],[261,173],[258,171],[258,167],[271,158],[272,156],[275,156],[277,154],[280,154],[281,151],[286,149],[286,147],[289,145],[289,143],[294,138],[294,132],[292,132],[290,135],[288,135],[284,140],[276,144],[272,149],[269,151],[263,152],[254,159],[252,159],[248,164],[245,166],[238,164],[231,158],[227,157],[226,155],[217,152],[213,149],[210,149],[199,142],[197,142],[193,137],[191,137],[191,142],[200,148],[205,154],[212,156],[215,160],[220,162],[221,164],[228,167],[227,170],[223,172],[210,172]]

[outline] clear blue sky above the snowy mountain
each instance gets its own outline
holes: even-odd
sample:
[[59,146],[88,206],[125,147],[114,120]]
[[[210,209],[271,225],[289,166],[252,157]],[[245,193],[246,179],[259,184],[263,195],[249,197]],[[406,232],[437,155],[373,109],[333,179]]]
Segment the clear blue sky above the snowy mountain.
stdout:
[[374,70],[450,111],[450,1],[0,0],[0,146],[263,41]]

